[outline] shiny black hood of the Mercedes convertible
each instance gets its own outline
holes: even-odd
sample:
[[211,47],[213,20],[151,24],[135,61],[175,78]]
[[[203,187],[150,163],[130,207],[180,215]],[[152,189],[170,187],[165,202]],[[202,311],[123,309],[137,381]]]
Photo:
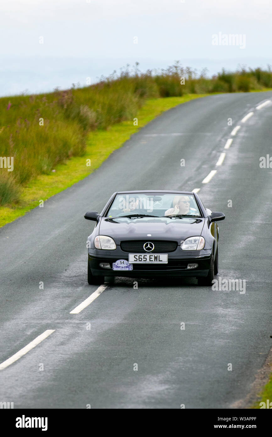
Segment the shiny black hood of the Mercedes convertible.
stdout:
[[102,218],[99,235],[112,237],[116,244],[134,239],[164,239],[179,243],[190,236],[201,235],[204,222],[204,218]]

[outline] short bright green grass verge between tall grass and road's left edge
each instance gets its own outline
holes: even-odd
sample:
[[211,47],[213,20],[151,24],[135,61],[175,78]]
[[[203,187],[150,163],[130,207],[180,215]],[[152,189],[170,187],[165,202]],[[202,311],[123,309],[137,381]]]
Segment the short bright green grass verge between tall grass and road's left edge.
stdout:
[[[149,99],[134,116],[138,118],[138,126],[131,120],[112,125],[108,130],[90,132],[86,140],[86,149],[81,156],[75,156],[63,164],[54,167],[55,172],[38,175],[21,188],[19,204],[0,207],[0,226],[10,223],[39,205],[54,194],[70,187],[97,169],[114,150],[121,147],[138,129],[145,126],[162,112],[189,100],[204,97],[207,94],[186,94],[182,97]],[[91,166],[86,166],[86,160]]]

